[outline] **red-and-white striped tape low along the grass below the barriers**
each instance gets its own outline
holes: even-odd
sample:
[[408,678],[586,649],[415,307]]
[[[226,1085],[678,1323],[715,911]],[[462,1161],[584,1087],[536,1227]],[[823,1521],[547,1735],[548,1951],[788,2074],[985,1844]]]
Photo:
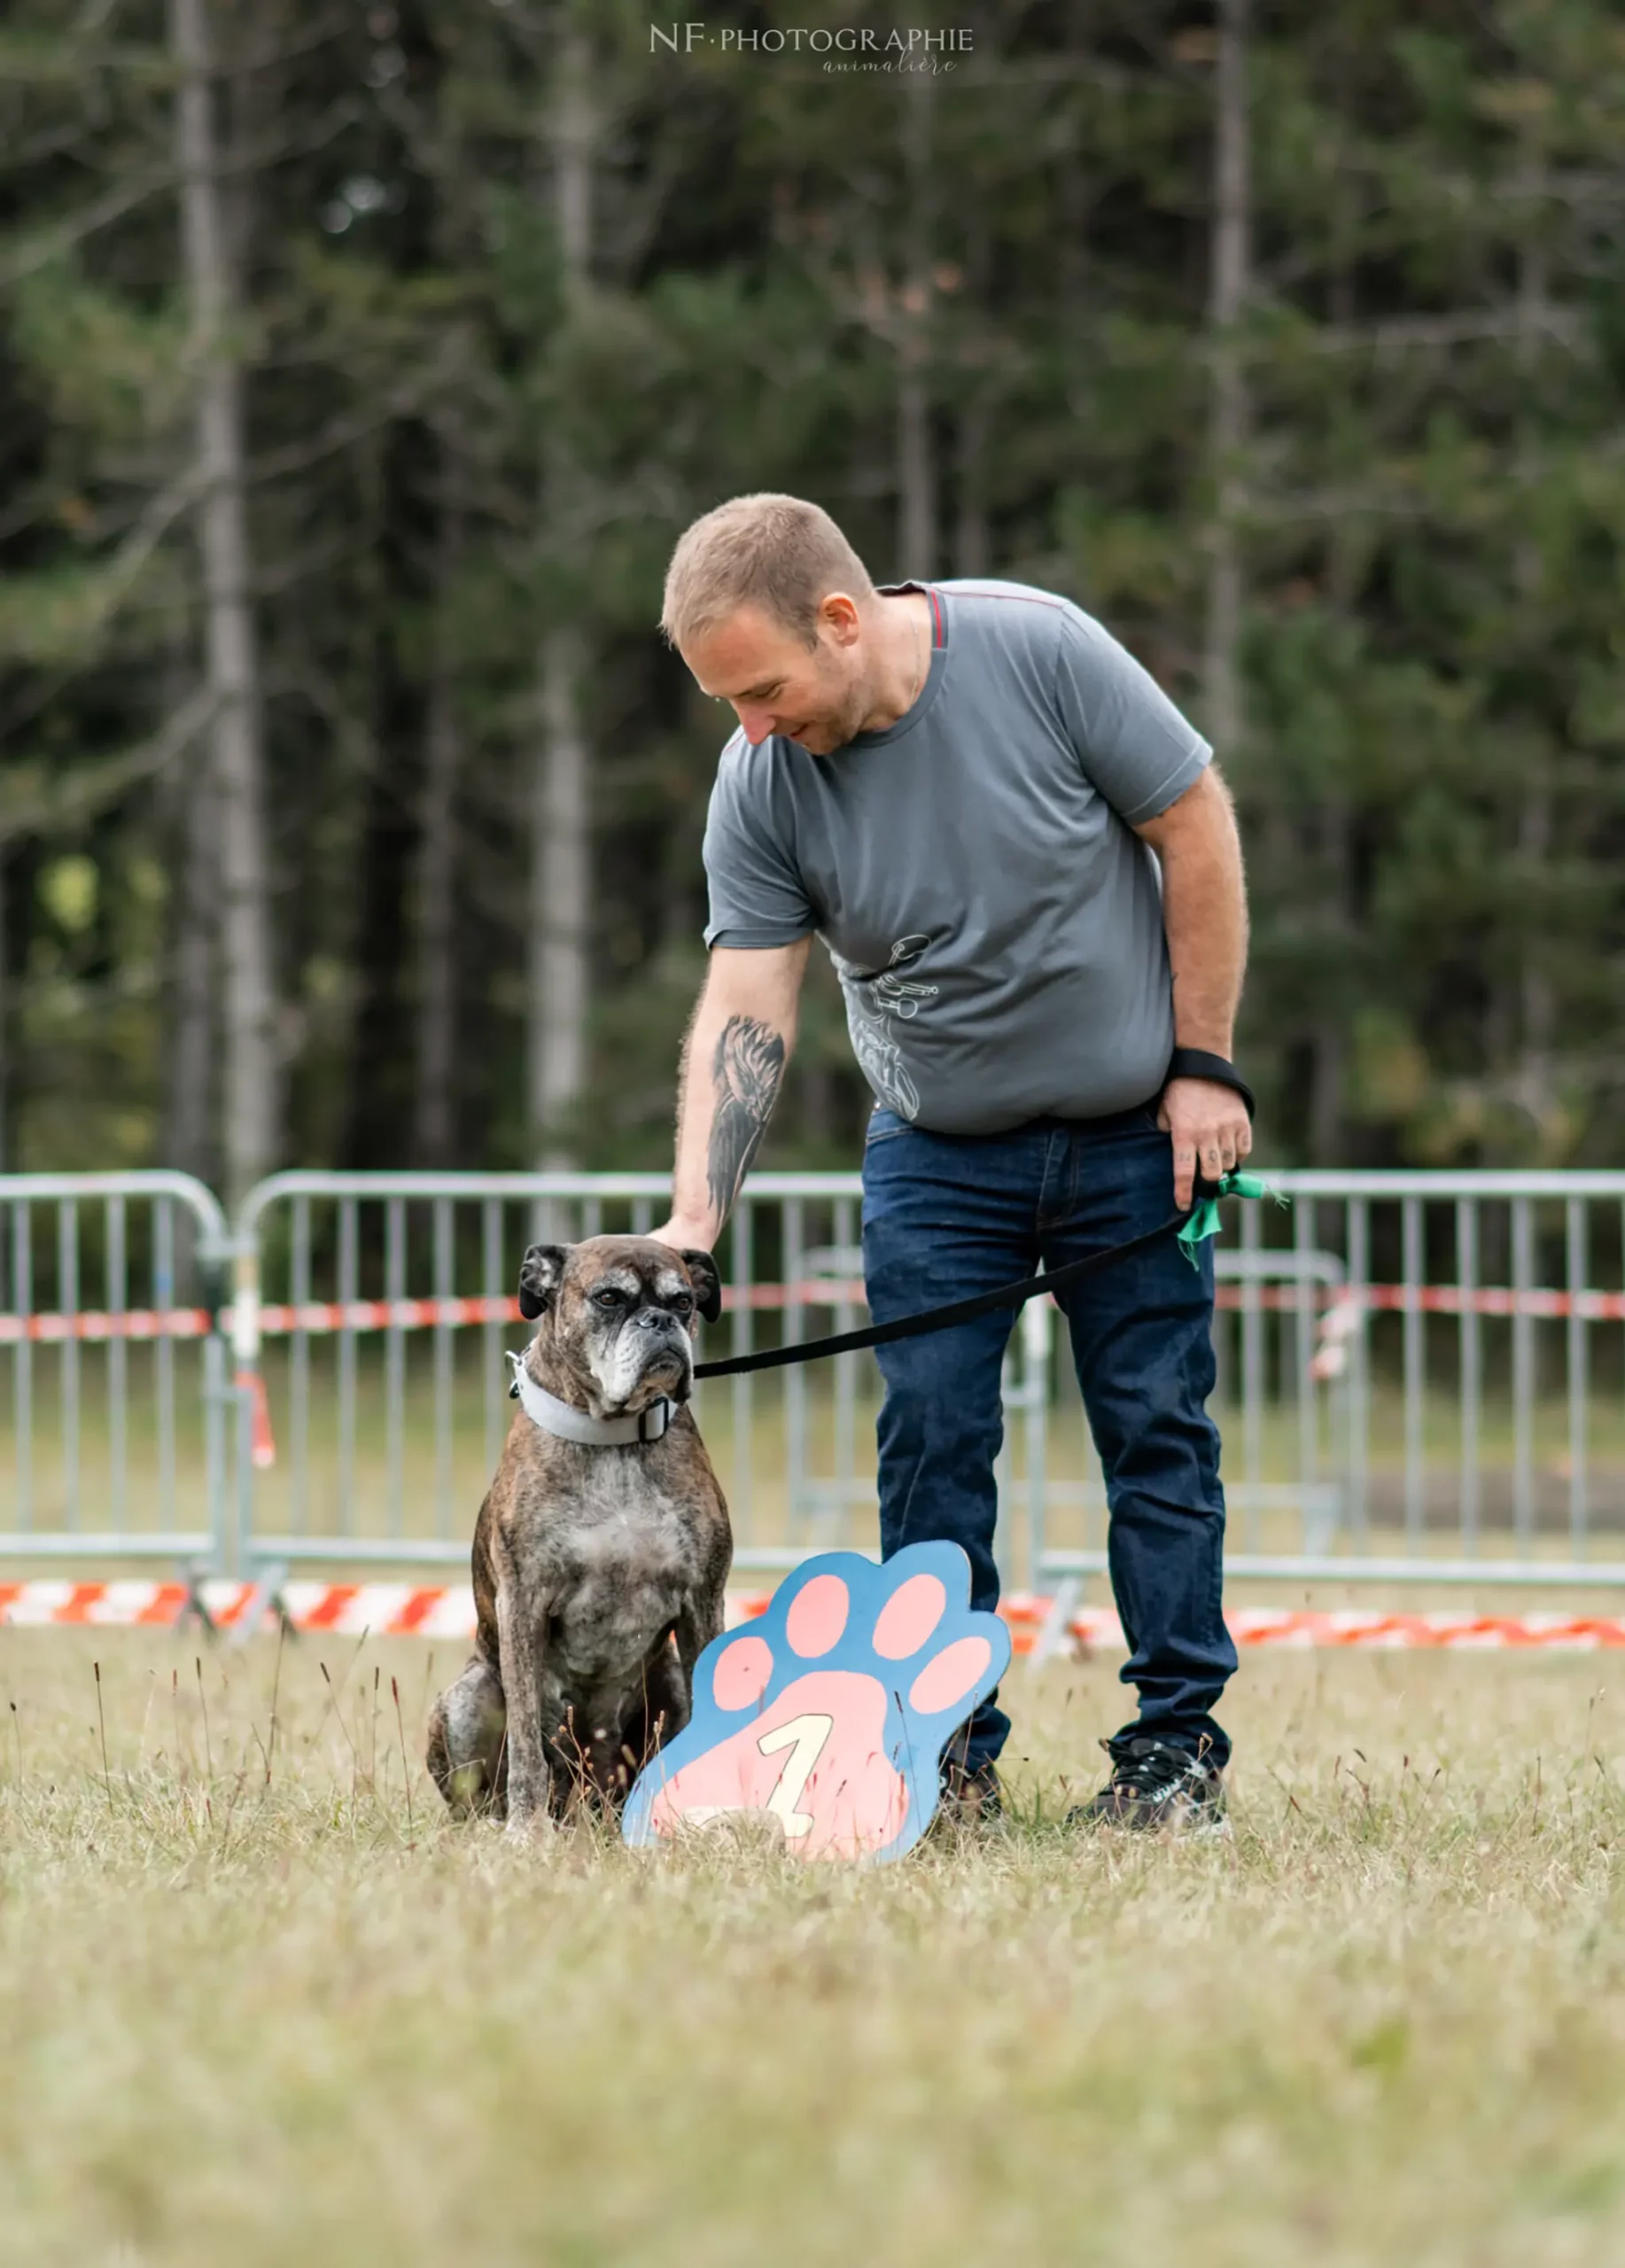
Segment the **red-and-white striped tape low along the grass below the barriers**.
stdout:
[[[252,1608],[254,1585],[209,1579],[200,1585],[209,1617],[234,1628]],[[336,1637],[447,1637],[474,1633],[474,1594],[463,1583],[284,1583],[281,1601],[295,1631]],[[79,1628],[168,1628],[186,1613],[186,1583],[0,1583],[0,1624]],[[765,1594],[731,1592],[729,1624],[767,1608]],[[270,1608],[266,1608],[270,1615]],[[1030,1653],[1049,1599],[1012,1597],[1001,1613],[1017,1653]],[[1239,1606],[1228,1615],[1239,1647],[1357,1647],[1450,1651],[1600,1651],[1625,1647],[1625,1615],[1466,1615],[1455,1610],[1384,1613],[1371,1608]],[[1067,1624],[1080,1649],[1123,1651],[1123,1628],[1110,1608],[1083,1608]]]

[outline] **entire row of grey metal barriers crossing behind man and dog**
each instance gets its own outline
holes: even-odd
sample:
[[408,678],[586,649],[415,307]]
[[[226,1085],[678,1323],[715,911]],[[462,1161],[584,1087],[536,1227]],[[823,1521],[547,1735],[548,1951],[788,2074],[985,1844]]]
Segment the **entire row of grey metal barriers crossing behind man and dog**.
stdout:
[[[1232,1576],[1625,1583],[1625,1173],[1278,1179],[1291,1204],[1228,1209],[1219,1247]],[[182,1175],[0,1179],[0,1556],[461,1565],[524,1245],[647,1229],[667,1193],[288,1173],[227,1232]],[[719,1263],[710,1354],[853,1327],[858,1175],[756,1175]],[[1076,1585],[1105,1486],[1049,1304],[1003,1390],[1001,1565]],[[869,1354],[701,1386],[742,1567],[874,1545],[878,1397]]]

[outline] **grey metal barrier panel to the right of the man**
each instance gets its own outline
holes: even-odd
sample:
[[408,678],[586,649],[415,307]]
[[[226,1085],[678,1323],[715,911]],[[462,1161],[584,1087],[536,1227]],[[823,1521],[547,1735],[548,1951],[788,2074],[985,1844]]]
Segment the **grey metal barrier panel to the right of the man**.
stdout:
[[[1625,1173],[1275,1184],[1219,1254],[1228,1576],[1625,1583]],[[1033,1551],[1058,1610],[1085,1506]]]

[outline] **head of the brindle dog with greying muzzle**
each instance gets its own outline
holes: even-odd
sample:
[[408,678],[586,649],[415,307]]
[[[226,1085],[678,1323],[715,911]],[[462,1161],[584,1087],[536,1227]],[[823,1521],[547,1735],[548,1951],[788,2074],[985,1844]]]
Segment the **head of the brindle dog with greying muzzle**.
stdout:
[[581,1245],[531,1245],[520,1268],[520,1313],[563,1359],[597,1415],[647,1408],[694,1386],[694,1315],[722,1313],[722,1279],[708,1252],[674,1252],[654,1236],[590,1236]]

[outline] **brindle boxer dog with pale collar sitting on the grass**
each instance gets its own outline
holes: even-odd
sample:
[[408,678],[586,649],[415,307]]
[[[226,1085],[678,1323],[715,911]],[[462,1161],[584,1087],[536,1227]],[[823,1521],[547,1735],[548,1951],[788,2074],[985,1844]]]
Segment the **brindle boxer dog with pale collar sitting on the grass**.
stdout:
[[722,1631],[729,1508],[688,1397],[694,1311],[722,1313],[708,1252],[649,1236],[531,1245],[520,1408],[474,1524],[474,1658],[429,1717],[456,1814],[508,1833],[579,1796],[617,1805],[690,1717]]

